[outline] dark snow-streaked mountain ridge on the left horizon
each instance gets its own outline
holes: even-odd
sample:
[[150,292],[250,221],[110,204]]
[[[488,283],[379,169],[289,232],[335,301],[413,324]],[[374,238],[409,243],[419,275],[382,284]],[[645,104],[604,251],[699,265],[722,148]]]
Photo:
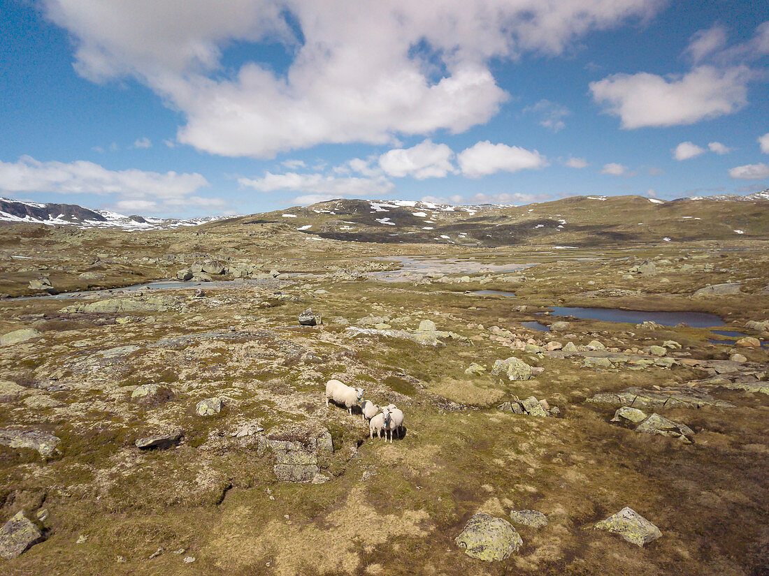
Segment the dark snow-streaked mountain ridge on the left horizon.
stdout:
[[125,216],[109,210],[90,210],[77,204],[41,204],[0,197],[0,221],[26,222],[55,226],[64,224],[80,228],[122,228],[123,230],[161,230],[180,226],[197,226],[221,220],[208,216],[191,220]]

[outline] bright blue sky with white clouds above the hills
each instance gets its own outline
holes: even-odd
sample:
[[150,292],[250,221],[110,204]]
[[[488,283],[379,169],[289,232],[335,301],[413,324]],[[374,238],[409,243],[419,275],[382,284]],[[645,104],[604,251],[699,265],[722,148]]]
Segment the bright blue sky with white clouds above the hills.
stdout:
[[0,0],[0,195],[191,217],[763,190],[761,4]]

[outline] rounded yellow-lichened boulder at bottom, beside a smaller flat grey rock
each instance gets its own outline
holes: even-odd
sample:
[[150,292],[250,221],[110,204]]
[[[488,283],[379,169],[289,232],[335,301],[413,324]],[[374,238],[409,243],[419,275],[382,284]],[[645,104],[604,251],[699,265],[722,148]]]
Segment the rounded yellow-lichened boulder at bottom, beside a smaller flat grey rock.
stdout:
[[510,522],[483,512],[468,520],[454,542],[471,558],[487,562],[505,560],[523,544]]

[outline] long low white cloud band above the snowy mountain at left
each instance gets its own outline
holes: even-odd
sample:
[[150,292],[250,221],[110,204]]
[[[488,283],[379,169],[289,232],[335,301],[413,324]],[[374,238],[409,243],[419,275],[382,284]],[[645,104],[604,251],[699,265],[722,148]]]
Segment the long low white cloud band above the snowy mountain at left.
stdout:
[[193,196],[205,186],[208,181],[197,173],[108,170],[88,161],[41,162],[29,156],[22,156],[16,162],[0,161],[0,190],[11,194],[95,194],[113,197],[118,204],[138,200],[152,202],[158,210],[202,205],[201,202],[221,205],[218,199]]

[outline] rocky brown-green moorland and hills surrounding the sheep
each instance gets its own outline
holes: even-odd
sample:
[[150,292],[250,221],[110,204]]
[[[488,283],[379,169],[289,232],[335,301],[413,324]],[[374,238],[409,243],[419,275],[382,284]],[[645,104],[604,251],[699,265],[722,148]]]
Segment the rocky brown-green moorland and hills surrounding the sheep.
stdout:
[[769,203],[596,198],[0,227],[2,573],[767,574]]

